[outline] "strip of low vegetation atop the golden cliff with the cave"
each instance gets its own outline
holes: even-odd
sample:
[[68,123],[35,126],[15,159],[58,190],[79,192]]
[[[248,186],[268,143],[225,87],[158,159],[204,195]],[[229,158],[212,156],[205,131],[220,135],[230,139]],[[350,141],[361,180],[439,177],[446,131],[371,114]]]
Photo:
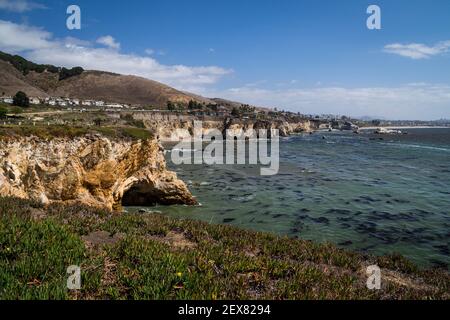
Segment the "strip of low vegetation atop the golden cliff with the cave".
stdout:
[[21,125],[0,126],[0,138],[13,136],[36,136],[43,139],[76,138],[86,134],[101,134],[108,138],[145,140],[153,138],[153,134],[145,129],[132,127],[83,127],[67,125]]

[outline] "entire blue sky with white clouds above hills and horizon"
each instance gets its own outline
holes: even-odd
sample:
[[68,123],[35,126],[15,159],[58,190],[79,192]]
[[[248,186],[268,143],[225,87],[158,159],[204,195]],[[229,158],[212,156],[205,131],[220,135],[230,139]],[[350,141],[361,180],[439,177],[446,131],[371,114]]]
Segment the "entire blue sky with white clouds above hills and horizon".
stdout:
[[450,119],[448,0],[0,0],[0,50],[305,114]]

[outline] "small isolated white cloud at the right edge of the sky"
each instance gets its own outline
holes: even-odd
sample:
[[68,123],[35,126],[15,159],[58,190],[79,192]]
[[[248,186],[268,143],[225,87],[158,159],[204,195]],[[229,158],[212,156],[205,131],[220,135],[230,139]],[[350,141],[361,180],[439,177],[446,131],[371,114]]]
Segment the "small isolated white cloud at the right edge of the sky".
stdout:
[[449,49],[450,49],[450,40],[441,41],[431,47],[422,43],[410,43],[410,44],[394,43],[388,44],[384,47],[384,51],[387,53],[396,54],[414,60],[428,59],[433,56],[441,55],[448,52]]

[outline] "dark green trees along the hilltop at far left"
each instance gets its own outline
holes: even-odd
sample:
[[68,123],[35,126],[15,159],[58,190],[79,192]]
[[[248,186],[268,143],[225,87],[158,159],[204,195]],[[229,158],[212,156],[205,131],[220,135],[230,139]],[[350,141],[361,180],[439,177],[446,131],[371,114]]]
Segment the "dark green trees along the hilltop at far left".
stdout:
[[58,68],[49,64],[36,64],[34,62],[28,61],[18,55],[10,55],[0,51],[0,60],[10,62],[17,70],[19,70],[24,75],[27,75],[31,71],[42,73],[44,71],[50,73],[58,73],[59,80],[64,80],[76,75],[83,73],[84,69],[81,67],[74,67],[72,69]]

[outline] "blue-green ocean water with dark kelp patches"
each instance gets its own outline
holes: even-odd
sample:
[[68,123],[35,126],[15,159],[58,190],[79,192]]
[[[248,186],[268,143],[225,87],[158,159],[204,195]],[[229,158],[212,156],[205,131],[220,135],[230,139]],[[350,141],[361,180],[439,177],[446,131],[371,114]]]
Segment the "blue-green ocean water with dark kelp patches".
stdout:
[[282,139],[271,177],[248,165],[175,166],[169,154],[201,206],[157,210],[448,268],[450,129],[408,132]]

